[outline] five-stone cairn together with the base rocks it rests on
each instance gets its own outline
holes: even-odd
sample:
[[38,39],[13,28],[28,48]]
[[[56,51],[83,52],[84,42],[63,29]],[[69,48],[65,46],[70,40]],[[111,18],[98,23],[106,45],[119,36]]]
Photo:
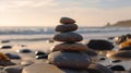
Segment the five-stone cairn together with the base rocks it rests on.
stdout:
[[82,52],[87,50],[87,46],[79,42],[83,37],[74,33],[78,25],[73,19],[61,17],[60,23],[53,36],[53,40],[59,42],[51,48],[48,63],[29,65],[22,73],[112,73],[106,66],[93,64],[91,57]]

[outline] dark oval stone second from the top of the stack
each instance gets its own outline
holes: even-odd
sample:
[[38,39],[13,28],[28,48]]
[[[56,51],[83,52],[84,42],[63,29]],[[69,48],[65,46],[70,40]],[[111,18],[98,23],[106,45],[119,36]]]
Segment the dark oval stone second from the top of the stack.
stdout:
[[76,24],[58,25],[56,27],[56,32],[72,32],[72,31],[76,31],[76,29],[78,29]]

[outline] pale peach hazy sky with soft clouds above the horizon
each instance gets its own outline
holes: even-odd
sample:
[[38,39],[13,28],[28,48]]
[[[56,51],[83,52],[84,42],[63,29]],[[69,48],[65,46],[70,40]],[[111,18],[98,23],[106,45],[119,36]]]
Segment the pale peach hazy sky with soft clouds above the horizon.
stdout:
[[0,26],[56,26],[62,16],[79,26],[131,20],[131,0],[0,0]]

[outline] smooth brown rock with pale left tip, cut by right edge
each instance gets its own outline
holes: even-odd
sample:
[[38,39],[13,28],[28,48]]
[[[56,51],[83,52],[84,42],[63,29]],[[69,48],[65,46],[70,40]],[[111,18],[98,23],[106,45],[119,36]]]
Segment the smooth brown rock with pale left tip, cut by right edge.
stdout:
[[107,57],[112,59],[119,59],[119,60],[131,60],[131,50],[108,52]]

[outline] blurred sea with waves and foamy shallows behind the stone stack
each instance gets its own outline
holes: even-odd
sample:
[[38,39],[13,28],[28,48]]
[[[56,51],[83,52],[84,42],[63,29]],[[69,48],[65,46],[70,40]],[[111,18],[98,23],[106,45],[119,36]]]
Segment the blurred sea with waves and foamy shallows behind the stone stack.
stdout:
[[[131,27],[79,27],[75,33],[97,39],[131,34]],[[45,40],[55,34],[55,27],[0,27],[0,40]]]

